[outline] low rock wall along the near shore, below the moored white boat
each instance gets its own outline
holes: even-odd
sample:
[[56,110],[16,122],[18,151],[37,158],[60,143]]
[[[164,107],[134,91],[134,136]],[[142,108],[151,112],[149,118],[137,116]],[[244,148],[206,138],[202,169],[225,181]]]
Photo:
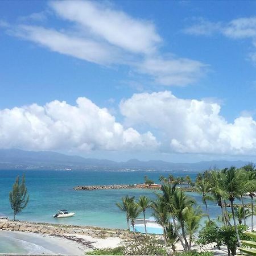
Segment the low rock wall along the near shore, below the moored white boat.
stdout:
[[50,236],[67,236],[72,234],[79,234],[91,236],[93,238],[119,237],[121,239],[129,239],[134,237],[133,233],[120,229],[104,229],[97,227],[75,225],[55,225],[49,223],[36,223],[12,220],[0,220],[0,230],[32,232],[39,234],[48,234]]

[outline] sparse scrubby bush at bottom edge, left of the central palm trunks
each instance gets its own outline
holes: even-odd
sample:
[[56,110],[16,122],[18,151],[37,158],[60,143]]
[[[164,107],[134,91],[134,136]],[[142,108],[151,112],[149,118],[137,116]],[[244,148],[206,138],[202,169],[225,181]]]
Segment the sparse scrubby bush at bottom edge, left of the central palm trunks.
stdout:
[[166,248],[159,240],[140,237],[123,243],[123,255],[167,255]]

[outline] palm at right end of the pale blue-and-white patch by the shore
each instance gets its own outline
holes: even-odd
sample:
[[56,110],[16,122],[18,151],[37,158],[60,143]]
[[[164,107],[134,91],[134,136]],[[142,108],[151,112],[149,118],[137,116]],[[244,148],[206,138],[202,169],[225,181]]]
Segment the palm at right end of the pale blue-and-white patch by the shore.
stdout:
[[170,213],[168,212],[168,207],[164,204],[164,201],[158,199],[151,203],[151,207],[154,210],[153,216],[156,219],[156,222],[160,224],[163,228],[163,236],[164,236],[164,243],[167,245],[167,237],[166,237],[166,225],[169,223],[170,220]]

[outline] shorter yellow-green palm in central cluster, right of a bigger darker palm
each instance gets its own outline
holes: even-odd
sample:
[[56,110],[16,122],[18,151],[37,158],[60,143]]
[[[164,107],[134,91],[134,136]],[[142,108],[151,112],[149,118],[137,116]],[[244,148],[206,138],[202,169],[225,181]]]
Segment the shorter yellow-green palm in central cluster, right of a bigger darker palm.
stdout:
[[200,207],[194,209],[190,207],[185,215],[185,226],[187,228],[188,236],[189,236],[189,250],[191,249],[191,243],[193,240],[193,234],[195,234],[196,230],[200,227],[201,218],[204,216]]

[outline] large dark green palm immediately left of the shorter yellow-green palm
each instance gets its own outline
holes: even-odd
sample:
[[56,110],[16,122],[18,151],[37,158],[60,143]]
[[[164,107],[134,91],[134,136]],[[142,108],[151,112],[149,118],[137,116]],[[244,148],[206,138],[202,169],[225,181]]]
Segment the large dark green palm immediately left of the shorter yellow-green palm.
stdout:
[[184,249],[186,250],[189,250],[189,243],[185,234],[185,214],[187,213],[189,208],[192,207],[193,204],[195,204],[195,200],[192,199],[192,197],[185,195],[185,193],[180,189],[175,189],[174,194],[172,195],[171,208],[174,216],[177,217],[177,220],[179,220],[180,222],[180,228],[185,242]]

